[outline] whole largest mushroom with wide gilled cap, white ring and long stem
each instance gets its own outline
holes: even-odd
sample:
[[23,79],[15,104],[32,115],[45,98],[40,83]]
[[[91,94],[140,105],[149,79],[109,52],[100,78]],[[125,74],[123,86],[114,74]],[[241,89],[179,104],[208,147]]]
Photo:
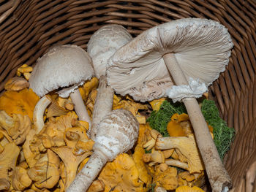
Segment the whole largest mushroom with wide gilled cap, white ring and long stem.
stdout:
[[213,191],[227,190],[231,180],[196,98],[225,71],[232,47],[220,23],[186,18],[144,31],[117,50],[107,66],[108,84],[116,93],[140,101],[168,96],[184,102]]

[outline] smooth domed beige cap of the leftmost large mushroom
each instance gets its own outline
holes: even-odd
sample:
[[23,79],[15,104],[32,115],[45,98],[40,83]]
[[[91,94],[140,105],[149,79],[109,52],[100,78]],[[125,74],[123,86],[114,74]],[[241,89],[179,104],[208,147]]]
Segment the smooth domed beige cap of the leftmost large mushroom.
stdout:
[[61,97],[67,97],[75,88],[94,76],[91,63],[89,54],[78,46],[53,47],[38,59],[29,79],[30,88],[38,96],[65,88],[58,93]]

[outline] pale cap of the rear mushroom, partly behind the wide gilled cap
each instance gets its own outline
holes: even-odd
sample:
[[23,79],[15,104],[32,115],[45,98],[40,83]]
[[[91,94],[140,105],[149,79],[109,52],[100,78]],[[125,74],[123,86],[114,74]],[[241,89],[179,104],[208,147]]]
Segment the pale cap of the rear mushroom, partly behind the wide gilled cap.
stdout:
[[111,24],[99,28],[88,42],[87,52],[92,58],[95,76],[105,75],[108,59],[118,48],[132,40],[132,36],[123,26]]

